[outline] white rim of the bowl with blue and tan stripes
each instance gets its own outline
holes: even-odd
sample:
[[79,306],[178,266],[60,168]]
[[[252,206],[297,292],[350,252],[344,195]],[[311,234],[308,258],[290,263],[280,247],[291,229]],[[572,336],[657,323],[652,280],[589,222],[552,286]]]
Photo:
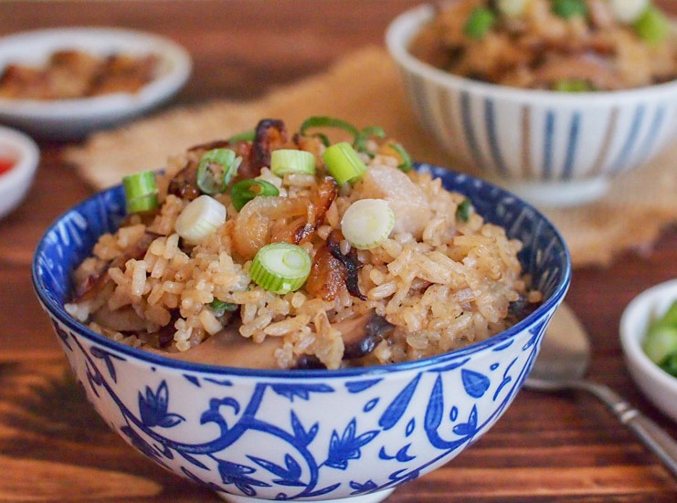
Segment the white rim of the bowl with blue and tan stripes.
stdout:
[[[621,101],[634,103],[649,99],[672,99],[674,93],[677,92],[677,79],[634,89],[566,93],[547,89],[513,88],[460,77],[415,58],[407,49],[411,38],[418,33],[421,26],[432,18],[434,12],[434,5],[423,4],[407,9],[396,16],[386,28],[386,47],[391,57],[400,66],[440,86],[464,89],[503,100],[513,100],[543,107],[610,106],[618,105]],[[677,31],[677,23],[673,22],[673,28]]]

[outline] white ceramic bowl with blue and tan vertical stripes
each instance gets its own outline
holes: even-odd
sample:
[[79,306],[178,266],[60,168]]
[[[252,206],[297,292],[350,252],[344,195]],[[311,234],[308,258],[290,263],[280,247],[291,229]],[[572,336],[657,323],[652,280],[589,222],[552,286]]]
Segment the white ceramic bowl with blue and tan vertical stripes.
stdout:
[[561,93],[464,79],[411,56],[434,15],[420,5],[388,27],[386,43],[418,120],[461,163],[535,204],[583,204],[677,133],[677,81],[614,92]]

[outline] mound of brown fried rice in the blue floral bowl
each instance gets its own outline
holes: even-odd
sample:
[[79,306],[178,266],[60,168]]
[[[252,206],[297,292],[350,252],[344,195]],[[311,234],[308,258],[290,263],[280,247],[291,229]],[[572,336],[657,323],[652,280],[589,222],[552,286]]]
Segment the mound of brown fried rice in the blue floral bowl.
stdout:
[[[247,138],[170,160],[155,176],[158,204],[101,236],[75,271],[69,314],[115,341],[189,361],[336,369],[452,351],[507,329],[540,302],[517,258],[522,244],[484,222],[464,195],[410,171],[401,145],[379,128],[317,119],[291,136],[281,121],[260,121]],[[340,183],[312,124],[349,131],[365,173]],[[241,162],[212,191],[197,182],[197,167],[215,150]],[[315,168],[285,173],[271,166],[275,151],[309,152]],[[214,179],[227,178],[218,162],[207,164]],[[249,193],[243,204],[233,187],[251,180],[278,194]],[[220,204],[225,219],[186,238],[177,220],[200,197]],[[393,216],[377,243],[344,236],[346,212],[365,200],[385,202]],[[252,279],[252,265],[260,248],[280,242],[300,246],[312,265],[298,288],[276,292]]]

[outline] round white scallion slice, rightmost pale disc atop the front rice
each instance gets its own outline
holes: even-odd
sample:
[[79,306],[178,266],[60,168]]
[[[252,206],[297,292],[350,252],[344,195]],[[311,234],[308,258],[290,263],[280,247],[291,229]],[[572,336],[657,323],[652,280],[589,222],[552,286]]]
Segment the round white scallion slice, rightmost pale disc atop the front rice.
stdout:
[[395,214],[383,199],[360,199],[348,206],[341,232],[355,248],[368,250],[383,243],[395,226]]

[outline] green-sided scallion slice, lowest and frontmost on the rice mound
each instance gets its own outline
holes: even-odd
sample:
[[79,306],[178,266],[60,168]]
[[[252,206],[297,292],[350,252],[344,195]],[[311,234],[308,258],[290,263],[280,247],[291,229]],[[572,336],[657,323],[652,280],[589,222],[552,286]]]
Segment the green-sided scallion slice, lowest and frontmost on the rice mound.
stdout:
[[303,286],[311,265],[310,255],[301,246],[273,243],[259,249],[249,267],[249,277],[261,288],[285,294]]

